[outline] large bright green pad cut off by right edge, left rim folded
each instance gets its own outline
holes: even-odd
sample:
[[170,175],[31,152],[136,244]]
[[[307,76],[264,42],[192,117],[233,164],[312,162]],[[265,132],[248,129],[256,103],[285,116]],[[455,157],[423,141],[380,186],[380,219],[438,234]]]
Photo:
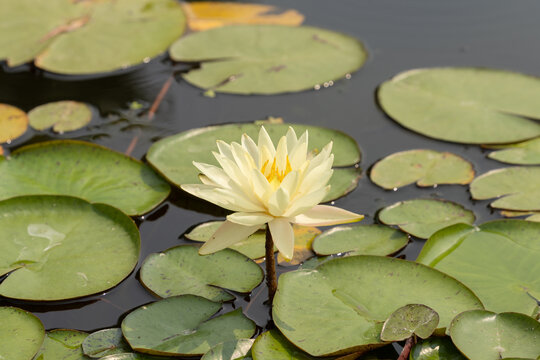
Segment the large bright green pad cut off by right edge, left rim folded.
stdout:
[[540,298],[540,223],[496,220],[435,233],[417,261],[468,286],[486,309],[532,315]]

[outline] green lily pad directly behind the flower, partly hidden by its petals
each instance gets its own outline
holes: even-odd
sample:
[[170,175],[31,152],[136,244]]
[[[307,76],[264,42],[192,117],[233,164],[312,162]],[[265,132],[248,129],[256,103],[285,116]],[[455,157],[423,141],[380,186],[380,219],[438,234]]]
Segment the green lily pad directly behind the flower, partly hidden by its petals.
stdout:
[[[226,143],[239,142],[244,133],[256,139],[260,126],[255,123],[228,124],[184,131],[154,143],[146,158],[173,184],[177,186],[198,184],[199,170],[193,166],[193,161],[219,166],[212,155],[212,151],[217,150],[216,139]],[[299,124],[264,124],[275,144],[287,132],[289,126],[292,126],[297,134],[309,131],[309,150],[314,153],[333,141],[334,166],[351,166],[360,161],[358,144],[340,131]],[[353,180],[358,181],[358,173],[356,170],[352,172],[347,170],[349,169],[335,169],[329,184],[341,188],[342,191],[335,193],[331,190],[331,197],[327,196],[324,201],[333,200],[352,190]]]

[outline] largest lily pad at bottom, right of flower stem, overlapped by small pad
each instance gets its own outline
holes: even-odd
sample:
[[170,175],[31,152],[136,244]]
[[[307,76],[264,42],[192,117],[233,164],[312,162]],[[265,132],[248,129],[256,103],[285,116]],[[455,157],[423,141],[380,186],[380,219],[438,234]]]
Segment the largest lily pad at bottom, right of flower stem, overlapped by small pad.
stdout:
[[437,311],[438,333],[457,314],[483,308],[446,274],[410,261],[360,255],[282,274],[272,314],[294,345],[312,356],[327,356],[381,346],[379,335],[389,315],[418,303]]

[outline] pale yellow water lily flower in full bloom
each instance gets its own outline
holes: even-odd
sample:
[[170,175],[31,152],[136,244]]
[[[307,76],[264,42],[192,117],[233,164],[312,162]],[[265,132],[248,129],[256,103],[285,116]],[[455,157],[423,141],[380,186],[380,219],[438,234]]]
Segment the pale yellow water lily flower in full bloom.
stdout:
[[182,185],[186,192],[235,211],[201,247],[200,254],[222,250],[268,224],[274,244],[287,258],[294,252],[291,223],[325,226],[360,221],[363,215],[318,205],[330,190],[332,143],[310,159],[308,132],[298,139],[292,127],[277,149],[261,127],[256,144],[242,136],[241,144],[218,140],[214,152],[221,168],[198,162],[202,184]]

